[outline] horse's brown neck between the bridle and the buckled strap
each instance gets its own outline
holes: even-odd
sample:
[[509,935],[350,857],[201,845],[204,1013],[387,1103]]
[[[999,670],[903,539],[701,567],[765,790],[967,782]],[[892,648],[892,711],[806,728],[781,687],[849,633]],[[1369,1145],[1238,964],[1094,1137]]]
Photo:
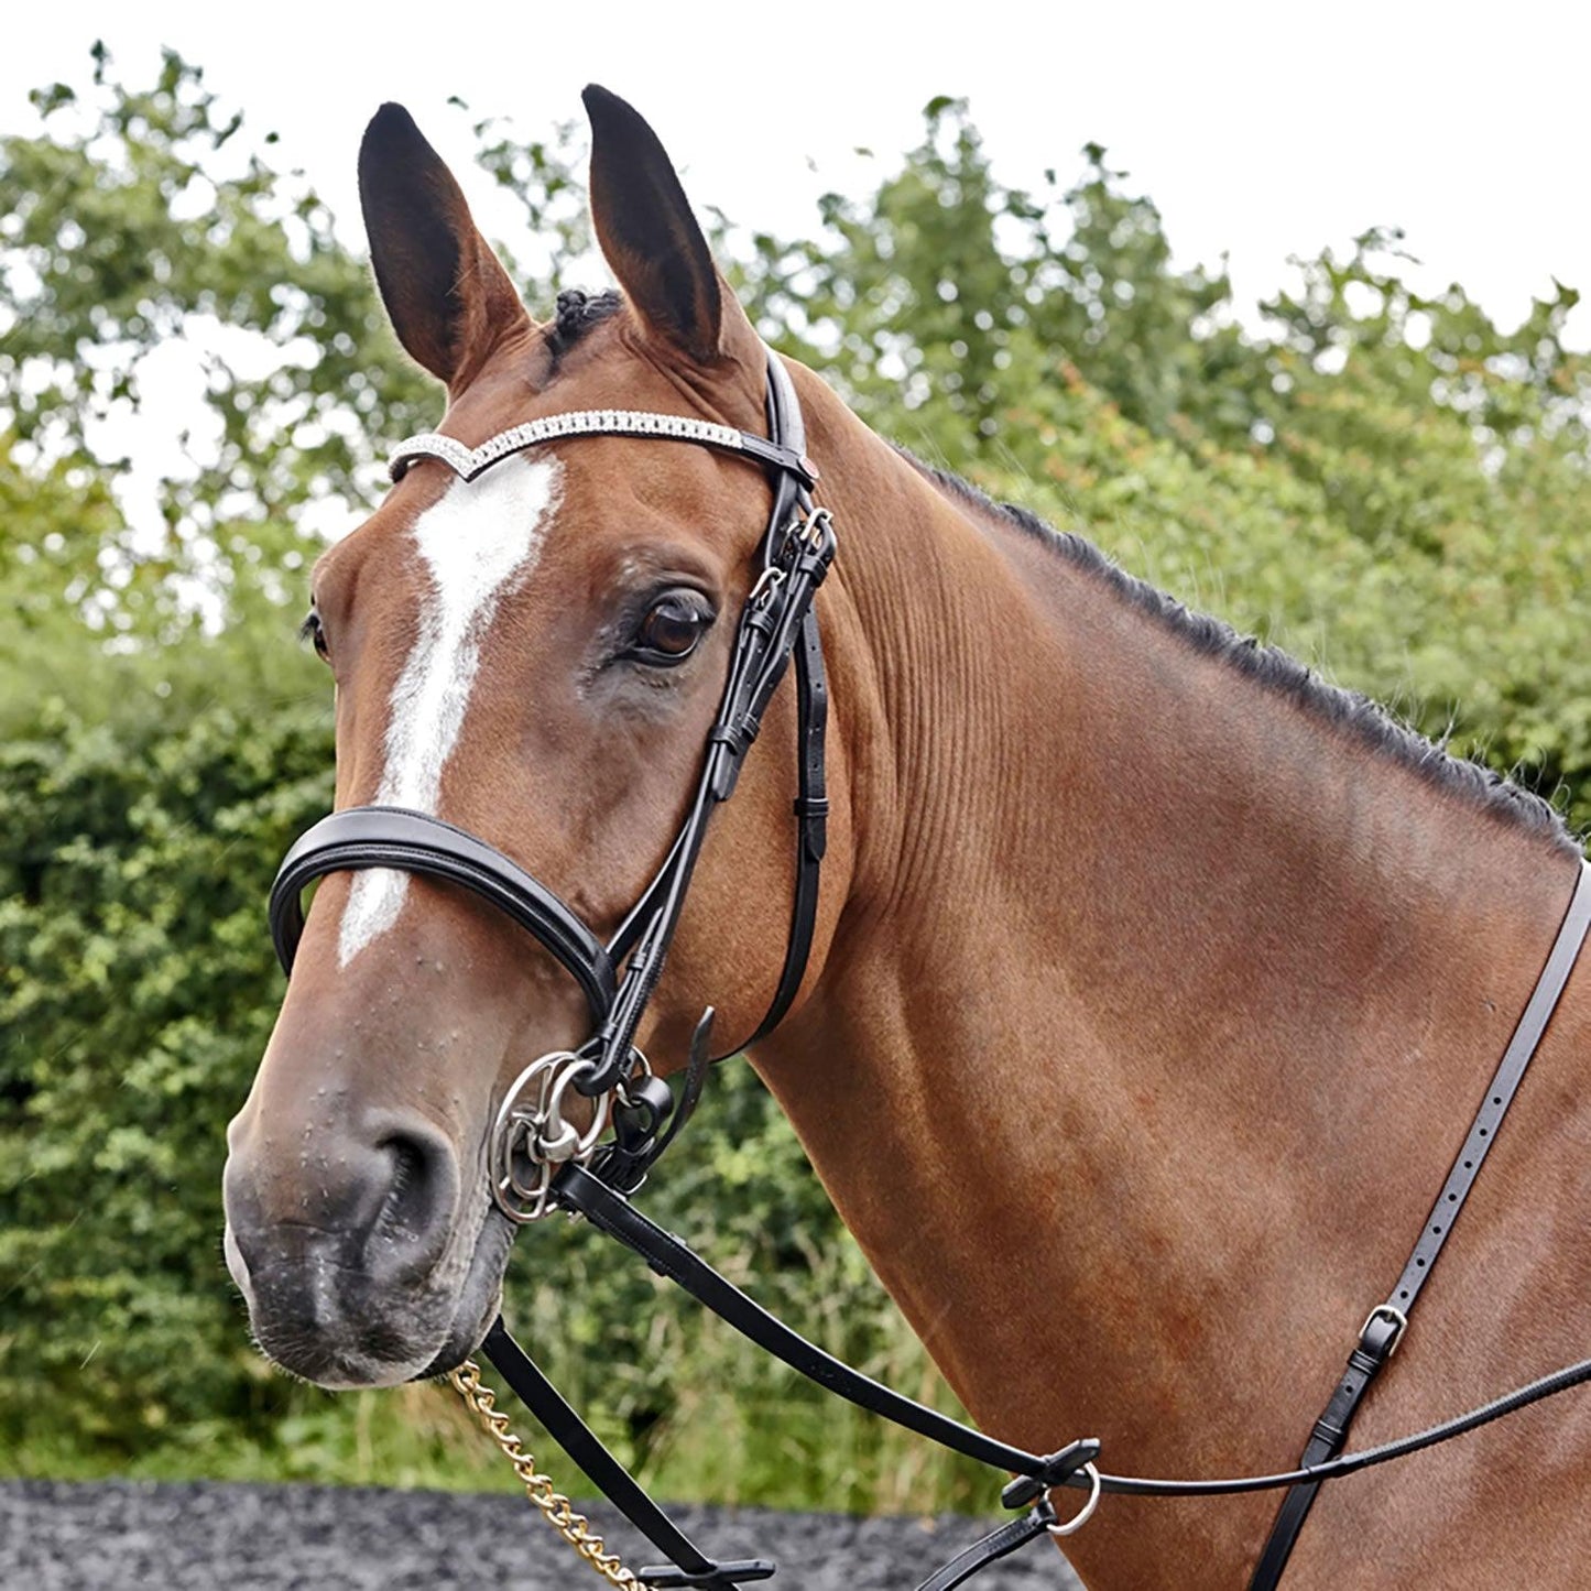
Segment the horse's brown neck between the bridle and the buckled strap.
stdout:
[[[846,463],[854,866],[759,1069],[985,1426],[1150,1473],[1286,1462],[1298,1367],[1324,1395],[1397,1274],[1570,851],[803,403]],[[1246,1551],[1271,1507],[1192,1526]],[[1155,1583],[1158,1523],[1122,1518],[1099,1550]]]

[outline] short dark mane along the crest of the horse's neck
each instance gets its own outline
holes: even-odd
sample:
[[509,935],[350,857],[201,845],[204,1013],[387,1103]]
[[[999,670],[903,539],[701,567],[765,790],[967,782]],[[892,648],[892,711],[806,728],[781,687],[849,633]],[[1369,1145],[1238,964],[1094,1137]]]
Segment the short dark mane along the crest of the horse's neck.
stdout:
[[1540,834],[1559,850],[1581,854],[1578,838],[1562,813],[1534,791],[1480,762],[1454,757],[1445,746],[1427,740],[1394,718],[1381,703],[1357,690],[1322,679],[1313,668],[1257,636],[1241,635],[1222,619],[1196,613],[1176,597],[1128,574],[1085,536],[1056,530],[1037,514],[1015,503],[996,503],[975,485],[947,469],[923,463],[905,449],[907,458],[942,493],[999,525],[1010,525],[1082,570],[1118,601],[1144,614],[1201,657],[1214,657],[1265,689],[1286,695],[1313,718],[1341,729],[1371,753],[1410,768],[1427,784],[1456,796],[1505,823]]

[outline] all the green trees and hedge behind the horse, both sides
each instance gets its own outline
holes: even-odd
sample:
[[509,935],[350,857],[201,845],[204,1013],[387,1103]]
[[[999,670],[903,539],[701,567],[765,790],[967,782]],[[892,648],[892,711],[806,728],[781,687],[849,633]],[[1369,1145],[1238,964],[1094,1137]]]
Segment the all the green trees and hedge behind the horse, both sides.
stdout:
[[[35,103],[41,129],[0,140],[5,1467],[504,1484],[428,1389],[269,1373],[220,1255],[224,1123],[280,998],[264,893],[329,802],[329,692],[290,640],[312,530],[358,511],[436,395],[325,205],[194,68],[132,89],[99,57],[81,95]],[[474,132],[552,245],[520,270],[544,307],[589,251],[571,134]],[[1018,193],[948,99],[813,239],[725,239],[765,331],[870,423],[1591,823],[1591,371],[1562,345],[1567,288],[1507,334],[1459,288],[1419,299],[1367,234],[1300,263],[1260,336],[1223,274],[1173,266],[1103,150]],[[185,344],[210,430],[150,523],[107,439]],[[947,1398],[748,1069],[648,1204],[835,1351]],[[592,1233],[523,1247],[515,1324],[665,1491],[986,1500]]]

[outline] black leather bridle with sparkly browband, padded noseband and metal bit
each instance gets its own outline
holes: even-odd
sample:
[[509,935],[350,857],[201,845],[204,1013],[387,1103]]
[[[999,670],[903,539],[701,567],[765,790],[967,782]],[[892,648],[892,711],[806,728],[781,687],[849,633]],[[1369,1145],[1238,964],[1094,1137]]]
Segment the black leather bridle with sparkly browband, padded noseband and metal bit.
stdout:
[[[428,813],[398,807],[348,807],[323,818],[288,851],[272,886],[270,934],[288,972],[304,934],[304,886],[331,872],[393,867],[480,896],[536,939],[579,983],[593,1023],[590,1037],[576,1050],[555,1050],[533,1061],[498,1111],[490,1144],[492,1196],[514,1222],[546,1214],[552,1177],[571,1160],[600,1161],[605,1181],[633,1192],[695,1109],[711,1064],[711,1007],[697,1026],[678,1106],[635,1047],[635,1033],[662,975],[708,821],[733,794],[762,714],[792,655],[799,796],[796,891],[784,966],[762,1021],[727,1053],[737,1053],[778,1025],[807,971],[829,811],[823,756],[827,684],[811,600],[834,560],[835,538],[827,511],[813,506],[818,473],[805,455],[800,403],[772,352],[767,372],[767,438],[686,415],[582,409],[512,426],[476,449],[436,433],[414,436],[398,445],[390,461],[393,480],[401,480],[415,460],[438,458],[468,482],[528,447],[579,436],[633,436],[694,442],[746,458],[764,466],[773,482],[757,574],[740,613],[729,679],[706,738],[695,794],[662,867],[608,943],[496,846]],[[563,1118],[563,1101],[571,1090],[593,1101],[590,1120],[581,1130]],[[614,1136],[605,1142],[609,1125]]]

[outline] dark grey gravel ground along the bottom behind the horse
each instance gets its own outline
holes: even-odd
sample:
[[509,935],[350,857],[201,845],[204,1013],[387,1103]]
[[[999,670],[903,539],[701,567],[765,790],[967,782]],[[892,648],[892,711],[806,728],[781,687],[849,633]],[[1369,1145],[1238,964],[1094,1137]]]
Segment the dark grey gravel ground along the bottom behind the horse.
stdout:
[[[603,1508],[592,1523],[649,1559]],[[773,1558],[773,1591],[910,1591],[998,1521],[851,1519],[681,1508],[724,1558]],[[333,1486],[0,1483],[3,1591],[552,1591],[600,1586],[527,1502]],[[971,1581],[977,1591],[1080,1591],[1048,1542]]]

